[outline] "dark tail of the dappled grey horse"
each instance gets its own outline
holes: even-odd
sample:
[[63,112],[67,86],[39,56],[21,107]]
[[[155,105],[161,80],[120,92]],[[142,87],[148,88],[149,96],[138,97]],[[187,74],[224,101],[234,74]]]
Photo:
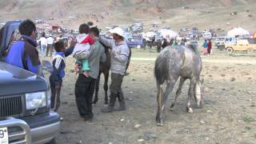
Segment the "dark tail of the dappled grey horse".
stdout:
[[162,85],[162,83],[165,82],[168,76],[168,70],[168,59],[158,56],[154,64],[154,77],[156,78],[158,84]]

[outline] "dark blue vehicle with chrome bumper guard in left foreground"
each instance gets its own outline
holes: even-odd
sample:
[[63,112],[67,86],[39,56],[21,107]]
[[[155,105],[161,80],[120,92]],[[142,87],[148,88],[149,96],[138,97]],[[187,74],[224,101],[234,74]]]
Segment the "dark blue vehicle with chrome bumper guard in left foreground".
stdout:
[[3,61],[20,23],[7,22],[0,36],[0,143],[55,143],[60,117],[50,110],[46,79]]

